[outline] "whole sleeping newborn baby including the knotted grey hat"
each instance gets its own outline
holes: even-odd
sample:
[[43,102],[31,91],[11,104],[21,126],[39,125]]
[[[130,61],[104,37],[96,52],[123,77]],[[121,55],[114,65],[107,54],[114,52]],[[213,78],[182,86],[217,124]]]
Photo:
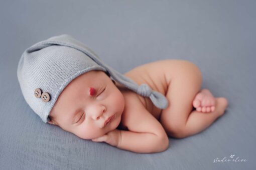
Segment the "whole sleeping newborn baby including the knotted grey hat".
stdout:
[[200,69],[166,59],[124,74],[68,34],[27,48],[17,70],[25,100],[46,123],[83,139],[140,153],[196,134],[221,116],[227,99],[200,89]]

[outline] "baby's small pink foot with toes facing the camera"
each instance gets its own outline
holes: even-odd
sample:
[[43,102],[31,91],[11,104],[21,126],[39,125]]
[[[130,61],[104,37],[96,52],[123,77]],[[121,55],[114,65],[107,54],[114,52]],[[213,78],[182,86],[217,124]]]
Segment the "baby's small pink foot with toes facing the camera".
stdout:
[[197,111],[214,111],[215,98],[208,89],[204,88],[196,94],[193,100],[193,106],[196,108]]

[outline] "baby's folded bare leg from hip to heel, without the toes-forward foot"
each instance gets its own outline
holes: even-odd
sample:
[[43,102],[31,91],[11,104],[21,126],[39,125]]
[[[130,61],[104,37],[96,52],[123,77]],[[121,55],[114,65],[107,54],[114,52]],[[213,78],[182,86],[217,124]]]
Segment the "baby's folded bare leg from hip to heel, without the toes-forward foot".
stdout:
[[213,111],[193,110],[193,100],[202,83],[201,71],[195,64],[174,60],[166,70],[166,78],[169,106],[162,110],[160,122],[169,136],[182,138],[198,133],[224,113],[227,106],[224,97],[216,98]]

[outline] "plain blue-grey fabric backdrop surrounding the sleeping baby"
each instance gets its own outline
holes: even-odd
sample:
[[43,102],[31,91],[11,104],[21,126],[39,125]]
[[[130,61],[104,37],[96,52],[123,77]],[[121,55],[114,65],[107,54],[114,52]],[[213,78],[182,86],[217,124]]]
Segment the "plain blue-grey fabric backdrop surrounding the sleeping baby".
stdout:
[[[255,169],[255,0],[5,0],[0,5],[0,169]],[[17,79],[22,52],[71,34],[124,73],[160,59],[199,66],[225,114],[169,148],[142,154],[43,123]],[[246,162],[217,162],[234,154]],[[230,157],[229,157],[230,158]]]

